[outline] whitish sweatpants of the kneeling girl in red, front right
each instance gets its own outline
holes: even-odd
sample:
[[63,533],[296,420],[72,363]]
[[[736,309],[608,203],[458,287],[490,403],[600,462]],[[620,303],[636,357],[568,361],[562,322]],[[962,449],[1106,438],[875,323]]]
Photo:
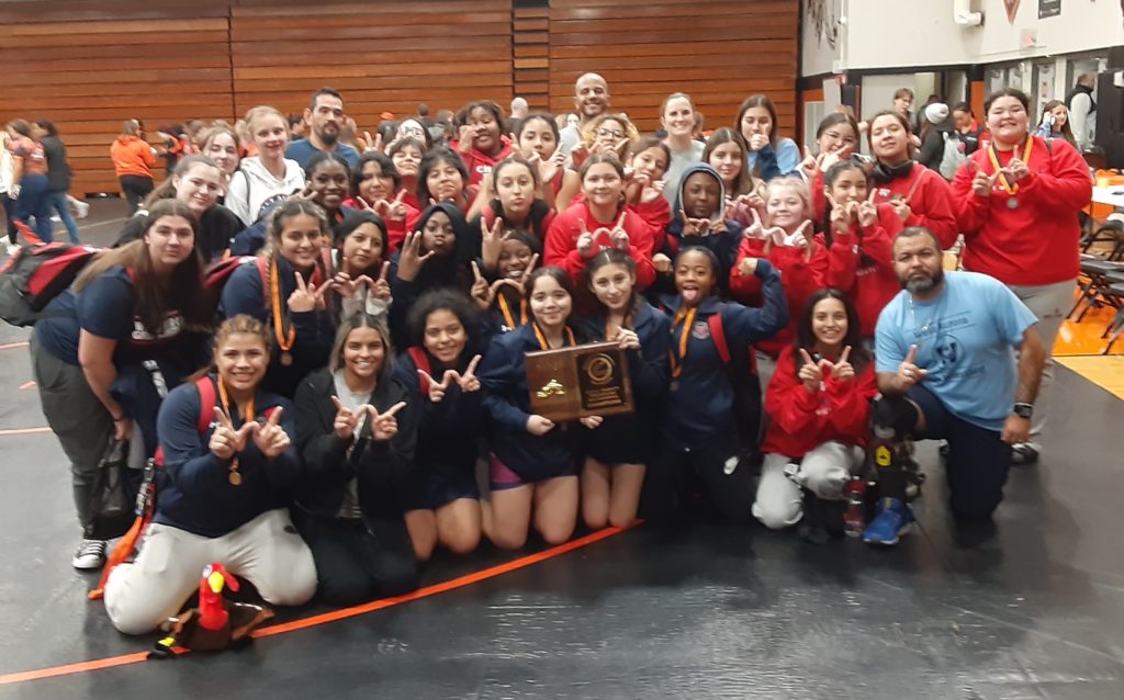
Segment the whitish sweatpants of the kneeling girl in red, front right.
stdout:
[[789,478],[785,467],[792,457],[767,454],[753,501],[753,517],[773,530],[796,525],[804,517],[800,487],[823,499],[842,499],[843,488],[862,460],[862,447],[832,440],[804,455],[799,471]]

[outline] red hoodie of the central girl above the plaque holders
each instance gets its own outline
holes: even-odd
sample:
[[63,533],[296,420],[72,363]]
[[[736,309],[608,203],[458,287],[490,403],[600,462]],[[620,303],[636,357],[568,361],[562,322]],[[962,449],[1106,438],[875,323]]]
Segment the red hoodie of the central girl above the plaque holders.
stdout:
[[[652,266],[651,254],[654,247],[653,240],[656,236],[662,239],[663,229],[653,230],[652,226],[632,207],[626,206],[624,210],[628,212],[623,226],[625,233],[628,234],[628,254],[636,262],[636,284],[641,288],[647,288],[655,281],[655,267]],[[586,230],[590,233],[598,228],[611,229],[617,225],[616,219],[598,221],[584,201],[571,204],[565,211],[554,217],[554,221],[546,231],[546,243],[543,249],[543,262],[565,270],[578,287],[583,284],[581,273],[586,269],[586,263],[589,262],[578,252],[581,221],[586,222]],[[602,239],[593,242],[595,251],[608,248],[613,243],[604,236]],[[645,251],[647,252],[645,253]]]

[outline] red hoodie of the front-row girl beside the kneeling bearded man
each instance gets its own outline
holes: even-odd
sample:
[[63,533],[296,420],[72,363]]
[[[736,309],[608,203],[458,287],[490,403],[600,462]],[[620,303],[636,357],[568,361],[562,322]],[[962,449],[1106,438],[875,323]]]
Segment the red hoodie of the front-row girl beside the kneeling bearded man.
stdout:
[[797,357],[790,345],[777,358],[777,371],[765,391],[770,422],[761,452],[803,457],[830,440],[865,445],[870,400],[878,393],[873,360],[854,379],[828,376],[812,392],[796,376]]

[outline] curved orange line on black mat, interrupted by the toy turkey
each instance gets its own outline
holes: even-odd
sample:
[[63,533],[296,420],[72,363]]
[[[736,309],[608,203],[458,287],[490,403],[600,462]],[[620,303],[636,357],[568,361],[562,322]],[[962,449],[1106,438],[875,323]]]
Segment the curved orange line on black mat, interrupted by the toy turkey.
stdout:
[[[591,535],[586,535],[584,537],[579,537],[565,544],[558,545],[556,547],[551,547],[550,549],[543,549],[542,552],[536,552],[535,554],[528,554],[527,556],[522,556],[515,561],[507,562],[504,564],[497,564],[496,566],[490,566],[483,571],[478,571],[474,573],[465,574],[459,576],[451,581],[445,581],[443,583],[435,583],[433,585],[427,585],[420,588],[413,593],[407,593],[405,596],[397,596],[395,598],[384,598],[382,600],[375,600],[369,603],[363,603],[362,606],[355,606],[353,608],[343,608],[341,610],[332,610],[330,612],[324,612],[320,615],[314,615],[311,617],[306,617],[299,620],[292,620],[291,622],[281,622],[279,625],[272,625],[270,627],[263,627],[261,629],[254,630],[254,637],[271,637],[273,635],[281,635],[288,631],[296,631],[298,629],[306,629],[308,627],[316,627],[318,625],[326,625],[328,622],[335,622],[337,620],[347,619],[350,617],[355,617],[359,615],[365,615],[368,612],[373,612],[375,610],[382,610],[383,608],[390,608],[393,606],[399,606],[404,602],[410,602],[413,600],[418,600],[422,598],[428,598],[430,596],[436,596],[438,593],[446,593],[459,588],[464,588],[466,585],[472,585],[473,583],[479,583],[481,581],[487,581],[488,579],[495,579],[496,576],[510,573],[513,571],[518,571],[519,569],[526,569],[537,564],[538,562],[553,558],[555,556],[561,556],[568,552],[573,552],[587,545],[591,545],[595,542],[600,542],[618,535],[628,528],[608,527],[604,530],[598,530]],[[108,656],[106,658],[96,658],[92,661],[82,661],[73,664],[65,664],[61,666],[49,666],[47,669],[35,669],[33,671],[20,671],[17,673],[7,673],[0,675],[0,685],[10,685],[12,683],[25,683],[28,681],[42,681],[44,679],[58,678],[61,675],[72,675],[75,673],[87,673],[89,671],[99,671],[101,669],[112,669],[115,666],[127,666],[130,664],[136,664],[145,661],[148,657],[147,652],[138,652],[135,654],[123,654],[120,656]]]

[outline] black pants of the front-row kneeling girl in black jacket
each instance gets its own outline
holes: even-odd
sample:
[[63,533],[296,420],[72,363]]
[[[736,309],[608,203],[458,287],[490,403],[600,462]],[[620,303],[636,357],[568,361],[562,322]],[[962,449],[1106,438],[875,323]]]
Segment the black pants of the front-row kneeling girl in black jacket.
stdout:
[[406,525],[320,518],[293,509],[293,521],[312,551],[317,589],[333,606],[401,596],[418,587],[418,567]]

